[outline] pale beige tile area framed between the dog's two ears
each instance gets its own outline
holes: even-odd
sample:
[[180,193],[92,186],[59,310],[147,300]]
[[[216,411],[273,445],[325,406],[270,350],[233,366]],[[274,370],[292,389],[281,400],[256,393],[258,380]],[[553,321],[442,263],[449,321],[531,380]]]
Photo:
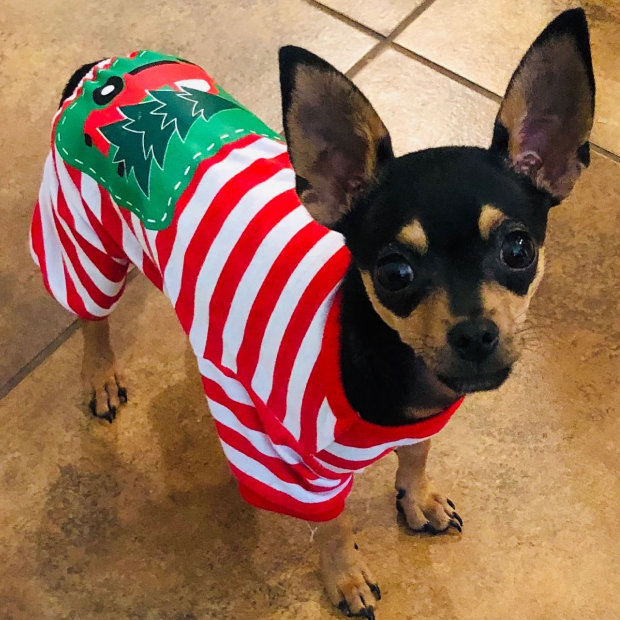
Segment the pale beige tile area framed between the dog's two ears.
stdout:
[[355,79],[392,136],[397,153],[433,146],[488,146],[497,104],[387,49]]

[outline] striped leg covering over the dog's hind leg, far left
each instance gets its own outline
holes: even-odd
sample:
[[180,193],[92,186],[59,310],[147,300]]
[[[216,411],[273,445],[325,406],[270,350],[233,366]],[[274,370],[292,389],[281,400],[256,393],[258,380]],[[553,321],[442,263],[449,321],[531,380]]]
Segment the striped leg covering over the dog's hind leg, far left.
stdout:
[[45,287],[87,320],[102,319],[114,309],[127,275],[128,261],[101,220],[103,193],[57,152],[50,153],[30,228],[31,253]]

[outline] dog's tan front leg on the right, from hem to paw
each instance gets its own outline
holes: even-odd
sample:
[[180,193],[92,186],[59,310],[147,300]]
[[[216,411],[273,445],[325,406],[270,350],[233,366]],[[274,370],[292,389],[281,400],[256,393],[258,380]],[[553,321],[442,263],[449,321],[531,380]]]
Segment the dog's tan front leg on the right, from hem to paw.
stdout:
[[426,476],[430,439],[398,448],[396,507],[412,530],[438,534],[450,528],[461,531],[463,520],[454,503],[437,492]]

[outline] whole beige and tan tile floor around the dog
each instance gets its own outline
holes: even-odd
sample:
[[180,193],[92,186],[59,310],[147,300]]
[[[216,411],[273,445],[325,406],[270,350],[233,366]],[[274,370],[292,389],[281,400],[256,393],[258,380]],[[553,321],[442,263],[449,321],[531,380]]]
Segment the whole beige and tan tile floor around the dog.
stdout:
[[[137,47],[178,53],[278,126],[276,50],[296,43],[350,70],[399,152],[485,145],[520,55],[577,3],[325,4],[4,0],[0,620],[338,617],[308,525],[238,498],[165,300],[141,277],[130,284],[112,325],[131,402],[113,426],[95,423],[76,381],[80,334],[48,299],[26,243],[51,114],[81,62]],[[463,535],[398,525],[393,458],[352,496],[384,620],[620,617],[620,10],[581,4],[599,148],[551,217],[537,346],[503,389],[469,399],[432,453]]]

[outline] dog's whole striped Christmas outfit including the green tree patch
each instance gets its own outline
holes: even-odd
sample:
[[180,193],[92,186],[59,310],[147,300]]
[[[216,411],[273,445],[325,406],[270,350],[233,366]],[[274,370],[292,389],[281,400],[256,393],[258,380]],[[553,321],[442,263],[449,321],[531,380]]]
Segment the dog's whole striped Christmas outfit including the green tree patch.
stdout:
[[460,404],[399,427],[351,409],[343,239],[300,204],[278,134],[187,61],[142,51],[84,77],[54,118],[30,239],[47,289],[79,317],[112,311],[130,263],[170,299],[260,508],[336,517],[354,472],[435,435]]

